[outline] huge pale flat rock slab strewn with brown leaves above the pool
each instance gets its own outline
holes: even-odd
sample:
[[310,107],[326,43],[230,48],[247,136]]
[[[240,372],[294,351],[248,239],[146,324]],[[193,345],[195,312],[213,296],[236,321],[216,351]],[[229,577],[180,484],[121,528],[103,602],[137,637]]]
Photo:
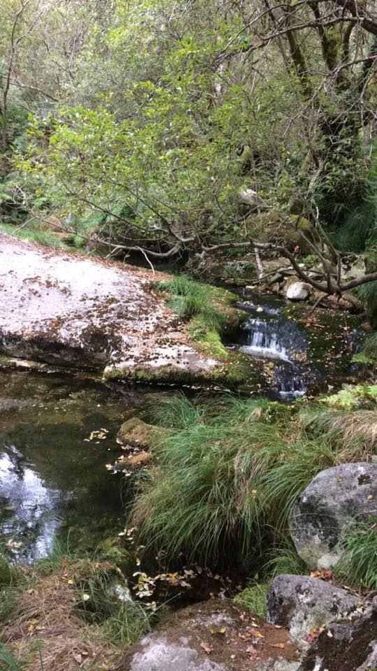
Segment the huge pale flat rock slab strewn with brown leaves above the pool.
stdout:
[[205,356],[145,268],[0,233],[0,352],[141,381],[212,380]]

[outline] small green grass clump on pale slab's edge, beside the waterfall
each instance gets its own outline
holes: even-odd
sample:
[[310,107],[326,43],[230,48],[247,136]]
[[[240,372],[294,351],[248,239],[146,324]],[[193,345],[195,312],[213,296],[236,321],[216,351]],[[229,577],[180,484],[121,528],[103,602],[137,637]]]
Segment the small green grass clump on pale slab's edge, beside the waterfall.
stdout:
[[[157,288],[171,294],[168,305],[179,317],[191,319],[200,315],[209,331],[221,332],[226,326],[227,316],[216,301],[216,289],[209,284],[194,282],[186,275],[172,275],[158,282]],[[219,301],[219,296],[217,299]]]

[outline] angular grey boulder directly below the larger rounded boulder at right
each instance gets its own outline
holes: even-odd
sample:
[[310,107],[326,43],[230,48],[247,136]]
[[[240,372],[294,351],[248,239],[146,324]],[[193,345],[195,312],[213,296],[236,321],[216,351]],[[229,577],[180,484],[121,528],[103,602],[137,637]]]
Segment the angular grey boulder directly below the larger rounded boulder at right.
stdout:
[[267,593],[267,622],[286,627],[294,640],[304,641],[319,628],[359,605],[357,597],[319,578],[278,575]]

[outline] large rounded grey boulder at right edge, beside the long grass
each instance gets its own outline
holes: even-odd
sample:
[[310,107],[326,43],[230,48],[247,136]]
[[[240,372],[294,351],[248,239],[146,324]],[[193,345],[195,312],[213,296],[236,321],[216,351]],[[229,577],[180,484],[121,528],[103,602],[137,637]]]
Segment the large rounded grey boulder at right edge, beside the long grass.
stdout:
[[377,464],[343,463],[306,487],[290,511],[290,537],[309,568],[331,568],[341,557],[342,531],[376,513]]

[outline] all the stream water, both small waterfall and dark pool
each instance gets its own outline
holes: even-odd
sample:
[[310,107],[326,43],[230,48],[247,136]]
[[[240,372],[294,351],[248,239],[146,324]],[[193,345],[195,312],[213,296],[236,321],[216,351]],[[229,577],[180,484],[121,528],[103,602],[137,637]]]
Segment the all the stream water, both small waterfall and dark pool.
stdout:
[[[339,367],[336,352],[346,346],[348,331],[340,341],[330,326],[324,331],[320,325],[319,335],[316,329],[309,333],[283,316],[284,306],[271,296],[240,296],[239,307],[249,317],[228,346],[267,367],[272,397],[290,402],[330,379],[329,363]],[[339,317],[336,326],[339,333]],[[330,351],[334,357],[320,354]],[[111,388],[80,375],[15,370],[0,371],[0,388],[1,544],[33,561],[45,556],[55,539],[95,549],[117,537],[130,489],[105,466],[119,456],[119,426],[151,394],[155,398],[156,389]],[[259,391],[271,396],[271,390]]]

